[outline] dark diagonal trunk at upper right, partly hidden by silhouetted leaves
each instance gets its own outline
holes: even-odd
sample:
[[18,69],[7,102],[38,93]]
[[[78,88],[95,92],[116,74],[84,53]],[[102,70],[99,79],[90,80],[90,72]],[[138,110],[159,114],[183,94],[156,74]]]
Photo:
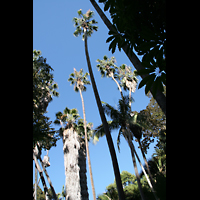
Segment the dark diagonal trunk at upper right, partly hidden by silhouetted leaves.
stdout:
[[[115,31],[112,28],[112,24],[109,21],[109,19],[106,17],[106,15],[102,12],[101,8],[98,6],[98,4],[96,3],[95,0],[90,0],[90,2],[92,3],[93,7],[96,9],[96,11],[98,12],[99,16],[101,17],[101,19],[103,20],[104,24],[108,27],[109,30]],[[133,51],[127,51],[128,50],[128,46],[124,45],[122,47],[123,51],[125,52],[125,54],[127,55],[127,57],[129,58],[129,60],[132,62],[133,66],[135,67],[135,69],[137,71],[144,69],[144,67],[142,66],[140,60],[138,59],[138,57],[135,55],[135,53]],[[128,53],[127,53],[128,52]],[[140,75],[143,78],[145,78],[147,75]],[[150,89],[151,93],[152,93],[152,88]],[[166,116],[166,97],[165,95],[160,92],[159,90],[156,93],[155,99],[158,103],[158,105],[160,106],[160,108],[162,109],[162,111],[164,112],[165,116]]]

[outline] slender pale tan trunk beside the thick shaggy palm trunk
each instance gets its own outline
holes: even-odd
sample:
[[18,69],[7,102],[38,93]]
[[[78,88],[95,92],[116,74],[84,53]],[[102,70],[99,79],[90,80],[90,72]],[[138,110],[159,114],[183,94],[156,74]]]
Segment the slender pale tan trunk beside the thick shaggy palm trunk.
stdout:
[[92,194],[93,194],[93,200],[96,200],[94,181],[93,181],[93,176],[92,176],[92,167],[91,167],[91,162],[90,162],[88,138],[87,138],[87,123],[86,123],[86,117],[85,117],[85,105],[84,105],[83,95],[82,95],[80,88],[79,88],[79,92],[80,92],[82,107],[83,107],[83,120],[84,120],[84,129],[85,129],[85,145],[86,145],[86,152],[87,152],[89,172],[90,172],[90,181],[91,181],[91,185],[92,185]]

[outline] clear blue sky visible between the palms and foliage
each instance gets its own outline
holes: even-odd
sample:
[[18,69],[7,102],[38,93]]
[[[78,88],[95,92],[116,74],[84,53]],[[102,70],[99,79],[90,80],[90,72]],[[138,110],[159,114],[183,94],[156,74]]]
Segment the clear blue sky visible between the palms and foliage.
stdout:
[[[103,9],[103,4],[100,4],[100,7]],[[73,72],[74,67],[78,71],[81,68],[83,68],[84,72],[87,71],[84,42],[82,41],[81,36],[78,38],[73,36],[75,27],[73,26],[72,19],[73,17],[77,17],[77,11],[79,9],[82,9],[83,13],[85,13],[88,9],[95,12],[95,9],[89,0],[33,1],[33,49],[41,50],[42,56],[47,58],[47,63],[54,69],[54,80],[58,83],[58,92],[60,93],[60,97],[54,98],[48,106],[47,115],[52,121],[55,120],[55,113],[63,111],[66,106],[70,109],[77,108],[80,116],[83,118],[80,95],[79,93],[74,92],[73,86],[70,86],[70,83],[67,81],[69,74]],[[108,12],[106,12],[106,15],[109,17]],[[123,51],[119,52],[117,49],[114,54],[108,51],[109,44],[105,42],[108,38],[108,29],[102,22],[98,13],[95,12],[94,18],[98,21],[99,30],[88,39],[93,73],[101,100],[115,106],[120,98],[117,85],[111,79],[101,78],[101,75],[96,68],[96,60],[103,59],[103,56],[107,55],[109,58],[111,56],[115,56],[118,66],[121,64],[132,66],[132,63]],[[134,66],[132,67],[134,69]],[[136,90],[132,96],[135,99],[135,102],[132,104],[132,110],[136,110],[138,112],[144,109],[150,100],[145,96],[144,88]],[[92,122],[94,127],[100,125],[101,119],[99,117],[92,86],[87,86],[87,91],[83,93],[83,98],[85,101],[87,122]],[[55,127],[56,130],[59,128],[54,125],[53,127]],[[135,174],[130,149],[126,141],[121,138],[121,152],[119,153],[116,145],[117,131],[112,132],[112,138],[117,153],[120,171],[122,172],[123,170],[126,170]],[[136,147],[138,146],[137,143],[134,142],[134,144]],[[60,140],[58,141],[57,146],[52,147],[49,151],[51,166],[47,168],[47,171],[56,193],[61,192],[62,186],[65,185],[62,146],[62,141]],[[153,144],[150,146],[147,158],[151,157],[154,151],[153,146]],[[96,145],[90,143],[89,150],[94,185],[96,195],[98,195],[105,191],[106,186],[114,182],[114,172],[106,138],[101,138]],[[137,149],[137,152],[142,160],[139,149]],[[45,154],[46,152],[43,152],[42,158]],[[138,168],[140,172],[141,168],[139,165]],[[89,188],[89,199],[92,200],[92,190],[88,168],[87,182]],[[43,189],[41,183],[40,187]]]

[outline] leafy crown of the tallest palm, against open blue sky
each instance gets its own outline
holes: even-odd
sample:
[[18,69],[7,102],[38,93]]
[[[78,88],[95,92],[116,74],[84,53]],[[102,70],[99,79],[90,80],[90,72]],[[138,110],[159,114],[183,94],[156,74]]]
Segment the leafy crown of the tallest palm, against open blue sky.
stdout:
[[93,24],[97,24],[94,19],[91,20],[91,18],[94,16],[94,12],[91,10],[88,10],[86,14],[83,14],[82,9],[77,11],[78,17],[74,17],[74,26],[76,27],[76,30],[74,32],[74,36],[77,37],[83,33],[82,40],[85,38],[85,33],[84,31],[87,32],[87,36],[91,36],[93,33],[93,30],[97,31],[98,26],[95,26]]

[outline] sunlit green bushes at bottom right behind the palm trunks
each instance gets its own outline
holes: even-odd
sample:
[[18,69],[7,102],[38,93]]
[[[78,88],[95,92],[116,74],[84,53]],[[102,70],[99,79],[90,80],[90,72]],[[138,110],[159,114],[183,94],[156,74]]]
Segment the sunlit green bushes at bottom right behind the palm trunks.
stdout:
[[[163,136],[160,136],[163,137]],[[166,138],[162,140],[162,145],[166,145]],[[156,194],[159,199],[166,199],[166,152],[164,149],[156,148],[155,153],[153,153],[152,158],[148,161],[151,174],[155,180]],[[146,166],[144,166],[146,168]],[[149,188],[146,177],[143,172],[140,173],[140,181],[144,194],[148,199],[154,199],[154,196]],[[126,200],[140,200],[140,192],[137,185],[136,177],[127,171],[122,171],[121,180],[123,184],[123,189],[125,193]],[[112,183],[106,187],[106,192],[99,195],[99,200],[117,200],[118,193],[116,189],[116,183]]]

